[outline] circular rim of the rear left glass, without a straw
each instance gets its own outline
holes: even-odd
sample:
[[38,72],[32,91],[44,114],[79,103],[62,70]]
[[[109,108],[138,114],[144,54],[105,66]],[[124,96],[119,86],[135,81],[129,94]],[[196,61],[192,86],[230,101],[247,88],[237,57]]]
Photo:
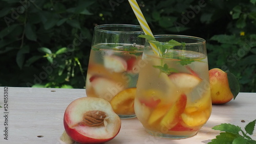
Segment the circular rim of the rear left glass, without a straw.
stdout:
[[[114,30],[103,30],[102,28],[111,28],[111,27],[123,27],[123,28],[138,28],[138,31],[114,31]],[[140,31],[139,31],[140,29]],[[94,30],[99,32],[112,32],[112,33],[142,33],[143,30],[139,25],[130,25],[130,24],[104,24],[104,25],[97,25],[94,27]]]

